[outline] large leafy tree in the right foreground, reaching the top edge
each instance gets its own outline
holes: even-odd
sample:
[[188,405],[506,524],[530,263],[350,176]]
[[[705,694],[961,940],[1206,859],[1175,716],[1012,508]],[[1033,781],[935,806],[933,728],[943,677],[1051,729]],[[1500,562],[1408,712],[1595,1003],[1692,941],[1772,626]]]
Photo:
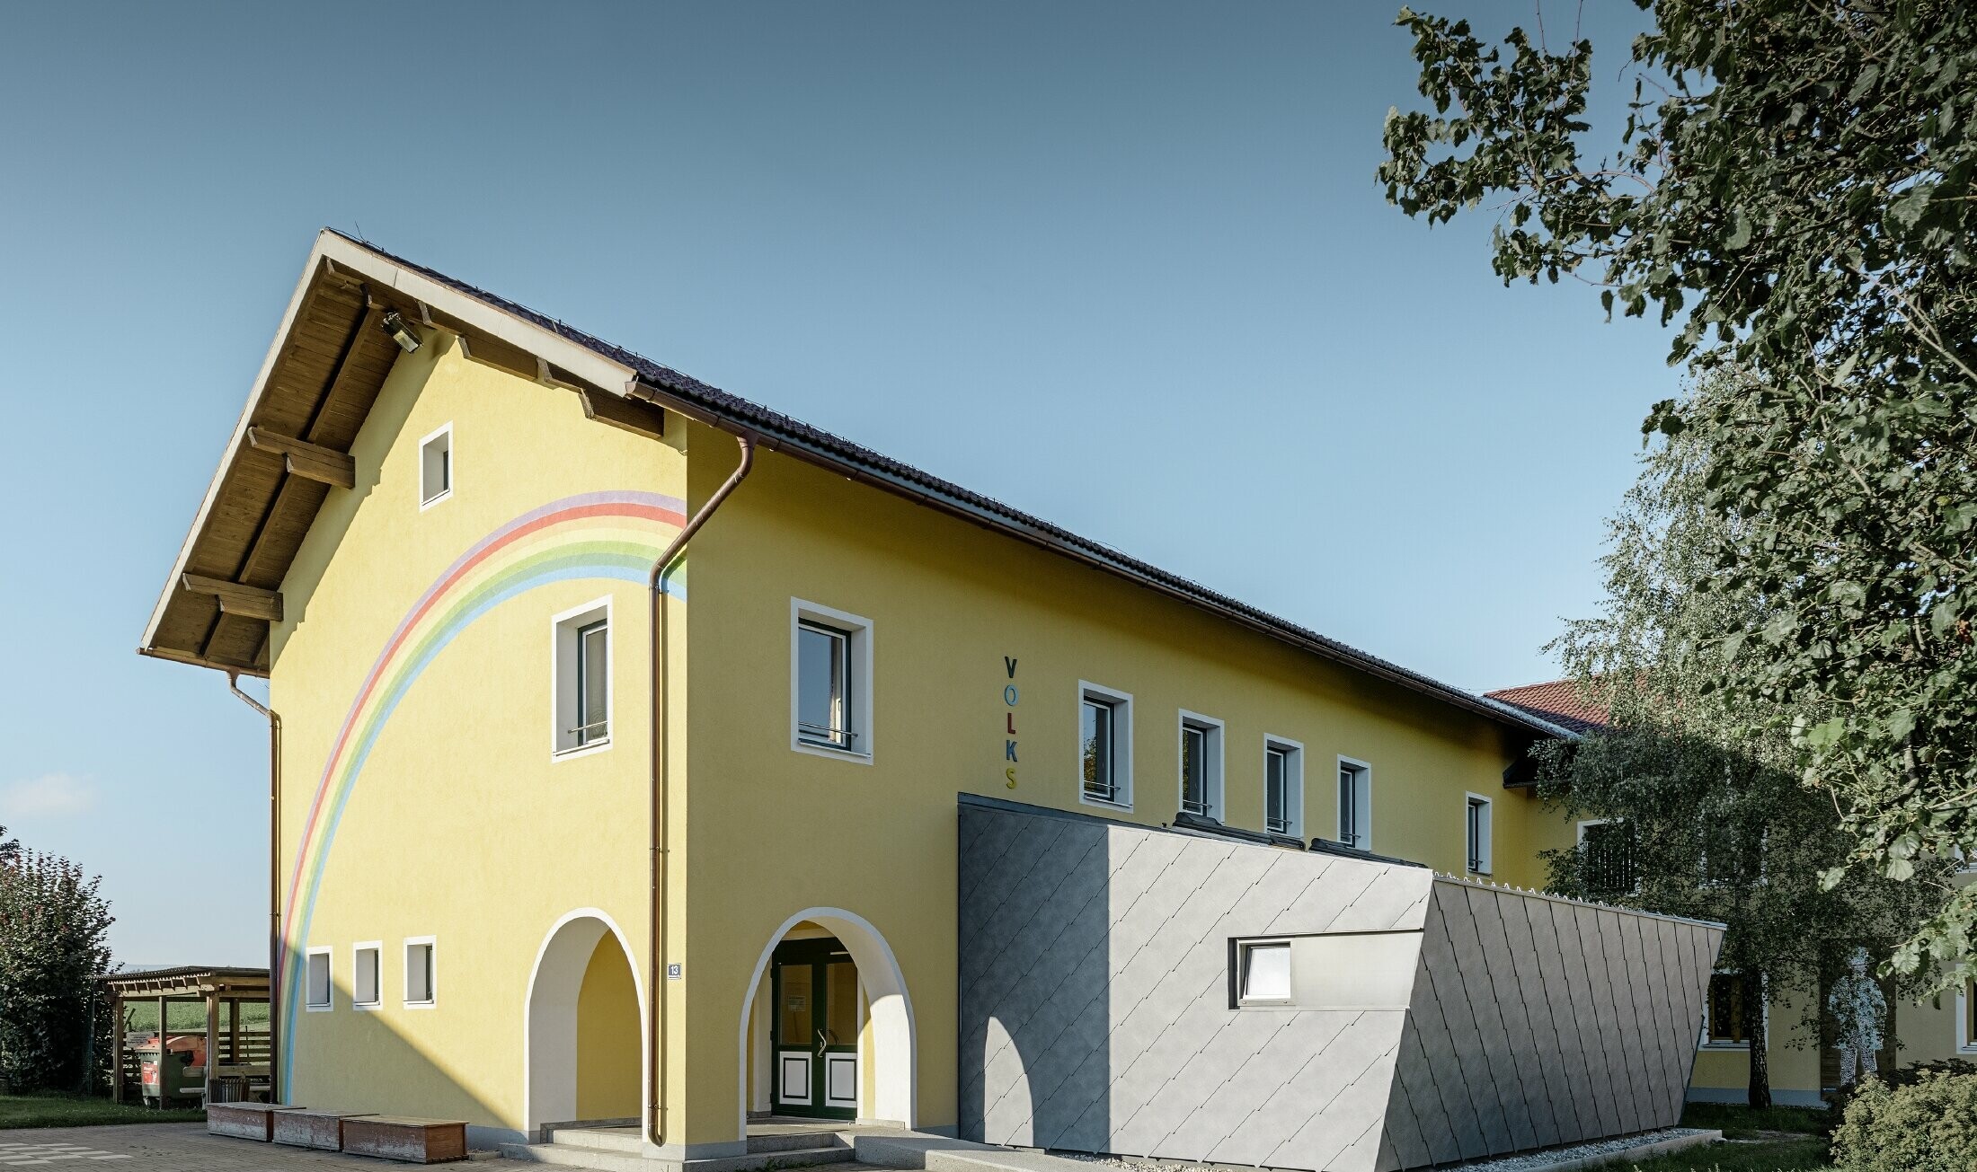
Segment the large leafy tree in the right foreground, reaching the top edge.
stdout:
[[[1653,22],[1595,148],[1590,42],[1489,47],[1402,10],[1433,109],[1388,115],[1378,178],[1429,223],[1489,202],[1504,283],[1655,306],[1671,362],[1726,379],[1645,425],[1706,435],[1702,506],[1734,522],[1682,583],[1724,627],[1676,650],[1696,696],[1785,737],[1852,874],[1910,879],[1977,856],[1977,6],[1655,0]],[[1896,968],[1977,976],[1973,925],[1959,887]]]

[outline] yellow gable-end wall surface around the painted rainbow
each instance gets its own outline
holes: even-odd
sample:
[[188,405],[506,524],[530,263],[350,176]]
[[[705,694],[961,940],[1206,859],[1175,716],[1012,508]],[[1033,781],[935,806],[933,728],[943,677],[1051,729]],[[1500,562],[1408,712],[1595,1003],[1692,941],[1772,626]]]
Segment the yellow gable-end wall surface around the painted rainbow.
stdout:
[[[433,338],[395,364],[352,451],[358,488],[330,490],[283,583],[269,682],[283,713],[283,901],[338,729],[421,593],[548,502],[623,488],[684,496],[676,445],[587,421],[573,393]],[[421,510],[417,445],[449,421],[453,496]],[[601,597],[613,601],[619,656],[613,747],[552,761],[550,617]],[[291,957],[334,949],[338,984],[332,1012],[295,1014],[285,1099],[518,1127],[524,1004],[550,925],[599,909],[646,964],[648,688],[635,666],[646,628],[643,581],[552,581],[461,627],[403,692],[342,808],[306,937],[301,915],[285,923]],[[437,937],[437,1004],[407,1008],[401,941],[421,935]],[[386,996],[356,1014],[350,945],[374,939]]]

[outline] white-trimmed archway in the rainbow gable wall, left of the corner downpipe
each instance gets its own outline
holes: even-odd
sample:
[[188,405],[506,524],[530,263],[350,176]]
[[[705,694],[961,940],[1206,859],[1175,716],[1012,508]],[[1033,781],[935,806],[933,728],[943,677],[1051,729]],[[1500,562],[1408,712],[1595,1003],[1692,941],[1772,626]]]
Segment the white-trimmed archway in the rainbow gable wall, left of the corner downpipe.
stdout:
[[645,996],[625,935],[585,907],[536,953],[524,1022],[524,1130],[554,1123],[643,1123]]

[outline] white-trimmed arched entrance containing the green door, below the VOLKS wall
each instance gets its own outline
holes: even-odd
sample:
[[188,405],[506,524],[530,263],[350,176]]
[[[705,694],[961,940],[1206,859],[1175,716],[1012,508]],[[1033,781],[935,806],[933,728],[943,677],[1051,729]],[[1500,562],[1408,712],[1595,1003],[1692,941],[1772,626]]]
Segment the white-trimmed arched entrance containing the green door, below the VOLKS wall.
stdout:
[[917,1123],[913,1000],[860,915],[809,907],[783,921],[749,976],[737,1046],[737,1134],[775,1113]]

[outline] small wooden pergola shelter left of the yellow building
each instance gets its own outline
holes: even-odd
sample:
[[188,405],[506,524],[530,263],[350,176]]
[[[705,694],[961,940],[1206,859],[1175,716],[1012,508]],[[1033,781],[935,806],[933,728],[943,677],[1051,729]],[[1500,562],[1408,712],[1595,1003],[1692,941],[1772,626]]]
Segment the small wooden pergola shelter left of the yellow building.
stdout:
[[[101,978],[109,988],[111,1018],[111,1097],[125,1099],[125,1083],[130,1081],[125,1063],[132,1053],[125,1040],[125,1006],[136,1002],[156,1002],[158,1006],[158,1046],[164,1053],[168,1030],[168,1006],[172,1002],[202,1002],[206,1006],[206,1095],[212,1101],[219,1079],[233,1079],[245,1089],[267,1087],[273,1067],[269,1063],[269,1042],[265,1030],[241,1030],[241,1004],[267,1004],[267,968],[154,968],[150,972],[129,972]],[[225,1028],[219,1024],[219,1010],[225,1006]],[[269,1022],[273,1030],[275,1022]],[[245,1095],[243,1095],[245,1097]]]

